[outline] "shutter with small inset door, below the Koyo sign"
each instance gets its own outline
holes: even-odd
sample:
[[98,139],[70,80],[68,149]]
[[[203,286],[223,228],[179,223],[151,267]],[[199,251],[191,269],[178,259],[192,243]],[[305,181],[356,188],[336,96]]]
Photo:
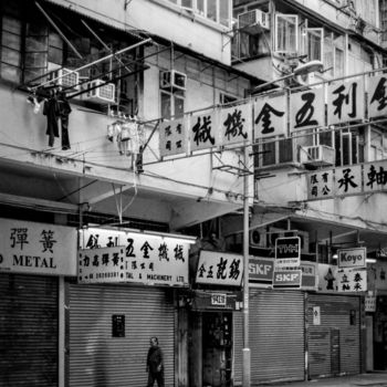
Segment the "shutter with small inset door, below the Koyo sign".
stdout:
[[[313,323],[314,306],[320,307],[320,325]],[[358,374],[360,372],[360,297],[308,294],[307,321],[310,377]]]

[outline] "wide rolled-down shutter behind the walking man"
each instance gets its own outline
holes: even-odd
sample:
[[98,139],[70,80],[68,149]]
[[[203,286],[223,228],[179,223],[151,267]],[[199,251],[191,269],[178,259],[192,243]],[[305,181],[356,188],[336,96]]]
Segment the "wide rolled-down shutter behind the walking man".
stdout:
[[[174,386],[174,291],[128,285],[70,285],[69,386],[138,387],[147,380],[149,337],[165,357]],[[125,316],[125,336],[112,337],[112,316]]]

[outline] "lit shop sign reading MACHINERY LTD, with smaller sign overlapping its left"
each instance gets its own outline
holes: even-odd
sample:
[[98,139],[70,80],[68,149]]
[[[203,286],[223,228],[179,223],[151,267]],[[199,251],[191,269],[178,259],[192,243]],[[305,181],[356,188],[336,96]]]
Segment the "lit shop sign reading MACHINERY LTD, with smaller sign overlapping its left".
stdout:
[[190,241],[182,237],[87,229],[80,240],[80,283],[188,286]]

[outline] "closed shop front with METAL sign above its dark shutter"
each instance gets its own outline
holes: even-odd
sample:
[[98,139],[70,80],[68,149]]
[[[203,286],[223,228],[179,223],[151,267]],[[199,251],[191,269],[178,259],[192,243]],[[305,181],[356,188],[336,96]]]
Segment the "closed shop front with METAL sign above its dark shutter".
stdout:
[[60,386],[63,276],[76,275],[76,231],[0,219],[0,386]]

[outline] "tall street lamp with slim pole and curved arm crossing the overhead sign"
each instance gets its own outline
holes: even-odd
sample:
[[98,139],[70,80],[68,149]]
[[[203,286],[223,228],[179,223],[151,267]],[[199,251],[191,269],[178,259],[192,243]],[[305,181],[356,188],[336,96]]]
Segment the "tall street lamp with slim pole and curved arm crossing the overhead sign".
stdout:
[[[272,85],[275,82],[287,80],[295,75],[303,75],[313,73],[315,71],[322,72],[324,65],[320,61],[311,61],[296,67],[293,73],[284,75],[278,80],[263,83],[252,91],[250,95],[257,93],[261,88]],[[249,165],[249,150],[244,146],[244,168]],[[243,349],[242,349],[242,362],[243,362],[243,375],[242,375],[242,387],[251,386],[251,355],[250,355],[250,343],[249,343],[249,174],[243,174]]]

